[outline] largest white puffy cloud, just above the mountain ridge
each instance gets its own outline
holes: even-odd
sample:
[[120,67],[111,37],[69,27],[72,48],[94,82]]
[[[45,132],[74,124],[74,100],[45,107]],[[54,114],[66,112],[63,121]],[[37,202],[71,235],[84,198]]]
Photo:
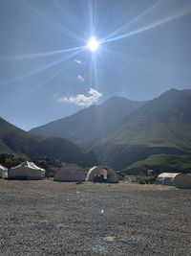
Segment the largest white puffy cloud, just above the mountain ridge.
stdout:
[[102,96],[102,94],[94,88],[90,88],[88,93],[90,94],[90,96],[86,96],[84,94],[77,94],[76,96],[62,97],[59,99],[59,102],[70,103],[80,106],[90,106],[96,104],[99,98]]

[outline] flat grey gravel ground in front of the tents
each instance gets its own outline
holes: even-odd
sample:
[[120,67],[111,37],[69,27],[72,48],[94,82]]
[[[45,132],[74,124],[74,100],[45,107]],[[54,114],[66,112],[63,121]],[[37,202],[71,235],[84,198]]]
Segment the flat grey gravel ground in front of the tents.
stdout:
[[0,256],[191,255],[191,190],[0,180]]

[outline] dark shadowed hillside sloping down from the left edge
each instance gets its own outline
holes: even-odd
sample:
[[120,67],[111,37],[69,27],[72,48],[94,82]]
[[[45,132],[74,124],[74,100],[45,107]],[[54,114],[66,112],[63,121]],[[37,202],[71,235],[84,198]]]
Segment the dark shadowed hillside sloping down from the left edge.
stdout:
[[35,136],[0,118],[0,153],[5,152],[32,158],[47,155],[84,167],[96,164],[93,152],[87,153],[69,140]]

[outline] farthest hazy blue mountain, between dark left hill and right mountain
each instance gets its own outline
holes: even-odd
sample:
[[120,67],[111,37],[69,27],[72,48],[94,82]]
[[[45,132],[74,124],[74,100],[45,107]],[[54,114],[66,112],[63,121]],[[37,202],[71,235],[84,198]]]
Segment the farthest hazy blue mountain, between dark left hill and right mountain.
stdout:
[[56,136],[72,140],[88,149],[114,131],[118,124],[143,102],[113,97],[102,105],[91,105],[66,118],[32,128],[32,134]]

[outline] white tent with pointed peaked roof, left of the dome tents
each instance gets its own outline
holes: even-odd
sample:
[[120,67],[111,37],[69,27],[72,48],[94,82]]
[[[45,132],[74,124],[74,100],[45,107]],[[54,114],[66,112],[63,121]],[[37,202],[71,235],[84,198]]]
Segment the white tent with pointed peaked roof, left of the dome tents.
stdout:
[[45,177],[45,170],[37,167],[33,162],[25,161],[12,167],[8,177],[13,179],[42,179]]

